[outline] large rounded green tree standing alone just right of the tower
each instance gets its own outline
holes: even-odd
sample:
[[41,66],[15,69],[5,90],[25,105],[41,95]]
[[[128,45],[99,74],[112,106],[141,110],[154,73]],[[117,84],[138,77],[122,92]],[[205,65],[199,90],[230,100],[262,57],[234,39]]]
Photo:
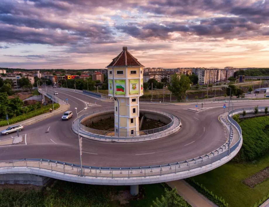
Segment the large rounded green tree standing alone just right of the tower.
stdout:
[[182,99],[182,96],[186,94],[186,91],[190,88],[189,77],[181,75],[180,77],[177,74],[171,76],[170,85],[168,89],[172,92],[174,96]]

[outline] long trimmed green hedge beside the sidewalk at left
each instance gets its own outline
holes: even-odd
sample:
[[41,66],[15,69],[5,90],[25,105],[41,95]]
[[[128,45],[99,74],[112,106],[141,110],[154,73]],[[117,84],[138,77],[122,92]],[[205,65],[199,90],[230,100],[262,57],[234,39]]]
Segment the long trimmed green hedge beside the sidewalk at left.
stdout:
[[[60,107],[60,104],[54,104],[54,109],[57,109]],[[37,109],[36,111],[31,111],[27,114],[24,114],[24,115],[19,115],[19,116],[16,116],[14,118],[10,118],[8,119],[8,122],[7,120],[1,120],[0,121],[0,127],[3,127],[3,126],[7,126],[8,123],[9,125],[11,124],[15,124],[15,123],[18,123],[18,122],[21,122],[21,121],[24,121],[26,119],[30,119],[32,117],[35,117],[35,116],[38,116],[38,115],[41,115],[43,113],[47,113],[49,112],[49,109],[52,108],[52,104],[50,105],[46,105],[46,106],[43,106],[42,108],[39,108]]]

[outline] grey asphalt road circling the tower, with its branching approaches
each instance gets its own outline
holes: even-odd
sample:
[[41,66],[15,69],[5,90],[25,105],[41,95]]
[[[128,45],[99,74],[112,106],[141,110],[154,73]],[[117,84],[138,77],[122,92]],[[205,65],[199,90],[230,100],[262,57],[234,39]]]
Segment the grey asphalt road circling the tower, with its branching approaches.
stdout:
[[[54,89],[47,87],[47,91],[51,93]],[[1,146],[1,160],[44,158],[79,164],[78,137],[71,130],[71,122],[76,118],[74,108],[77,107],[77,111],[81,111],[79,115],[82,115],[90,111],[113,107],[113,104],[92,99],[83,94],[60,89],[56,91],[61,99],[68,98],[69,110],[73,111],[73,118],[62,121],[62,114],[58,114],[26,126],[22,133],[27,134],[27,145]],[[89,107],[82,111],[86,106],[85,103],[94,103],[94,101],[100,106]],[[258,105],[268,106],[268,103],[259,102]],[[256,105],[257,102],[239,102],[234,104],[234,108]],[[224,127],[218,121],[218,116],[223,113],[223,104],[204,104],[207,109],[199,113],[187,110],[187,108],[195,107],[194,105],[140,104],[140,106],[159,108],[177,115],[182,121],[182,129],[169,137],[146,142],[111,143],[83,139],[83,165],[137,167],[174,163],[209,153],[226,141]]]

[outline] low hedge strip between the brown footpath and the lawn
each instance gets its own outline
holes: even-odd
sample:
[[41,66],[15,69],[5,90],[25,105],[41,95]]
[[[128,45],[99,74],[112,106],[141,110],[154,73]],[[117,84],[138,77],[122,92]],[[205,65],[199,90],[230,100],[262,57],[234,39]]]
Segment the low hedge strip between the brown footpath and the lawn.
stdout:
[[193,178],[187,178],[187,179],[185,179],[185,181],[188,182],[198,192],[200,192],[201,194],[206,196],[209,200],[211,200],[213,203],[215,203],[219,207],[228,207],[229,206],[228,203],[225,203],[225,201],[224,201],[224,199],[222,199],[222,197],[218,197],[217,195],[214,195],[212,191],[209,191],[202,184],[195,182],[195,180]]

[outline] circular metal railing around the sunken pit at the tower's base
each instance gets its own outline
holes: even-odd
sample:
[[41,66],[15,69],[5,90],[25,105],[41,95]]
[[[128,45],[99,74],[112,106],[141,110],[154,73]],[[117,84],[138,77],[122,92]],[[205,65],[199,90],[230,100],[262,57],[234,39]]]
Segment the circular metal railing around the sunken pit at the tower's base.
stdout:
[[[165,126],[158,127],[158,128],[155,128],[155,129],[150,129],[150,130],[141,130],[141,131],[133,131],[133,132],[121,132],[120,131],[120,136],[119,137],[124,137],[125,139],[126,138],[133,139],[134,137],[137,138],[137,136],[155,134],[155,133],[159,133],[159,132],[162,132],[162,131],[165,131],[165,130],[169,129],[174,124],[175,117],[174,117],[174,115],[172,115],[170,113],[167,113],[165,111],[160,111],[158,109],[154,110],[152,108],[140,108],[140,110],[141,111],[151,111],[151,112],[156,112],[156,113],[166,115],[171,119],[171,122],[169,124],[165,125]],[[85,131],[87,131],[89,133],[92,133],[92,134],[95,134],[95,135],[98,135],[98,136],[108,136],[110,139],[112,139],[112,138],[117,138],[118,139],[117,132],[92,129],[90,127],[86,127],[85,125],[81,124],[82,119],[84,119],[87,116],[91,116],[91,115],[102,113],[102,112],[109,112],[109,111],[111,111],[111,112],[114,111],[114,108],[108,108],[108,109],[104,109],[104,110],[93,111],[93,112],[86,113],[86,114],[80,116],[80,118],[79,118],[79,127],[82,130],[85,130]],[[180,124],[180,119],[179,118],[177,118],[177,119],[179,121],[178,124]]]

